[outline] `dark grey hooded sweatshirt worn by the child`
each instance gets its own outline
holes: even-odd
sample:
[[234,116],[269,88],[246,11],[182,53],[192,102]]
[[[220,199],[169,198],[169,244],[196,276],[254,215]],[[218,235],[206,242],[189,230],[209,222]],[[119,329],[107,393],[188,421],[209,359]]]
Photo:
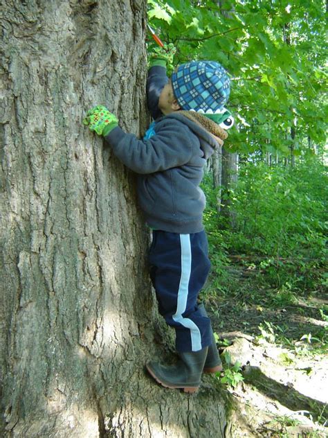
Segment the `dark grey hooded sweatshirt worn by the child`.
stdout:
[[116,157],[137,174],[138,201],[149,227],[191,234],[203,230],[206,200],[199,184],[206,160],[219,143],[183,113],[157,119],[149,139],[137,139],[120,127],[105,139]]

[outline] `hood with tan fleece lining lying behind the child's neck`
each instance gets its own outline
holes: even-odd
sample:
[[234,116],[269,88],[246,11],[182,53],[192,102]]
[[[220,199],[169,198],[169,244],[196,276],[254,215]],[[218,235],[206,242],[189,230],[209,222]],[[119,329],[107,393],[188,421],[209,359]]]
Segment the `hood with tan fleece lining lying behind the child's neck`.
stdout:
[[194,111],[181,110],[173,112],[166,117],[178,119],[185,123],[185,125],[188,125],[188,128],[199,137],[201,149],[206,159],[212,155],[215,149],[222,146],[224,140],[228,137],[228,132],[220,128],[217,123]]

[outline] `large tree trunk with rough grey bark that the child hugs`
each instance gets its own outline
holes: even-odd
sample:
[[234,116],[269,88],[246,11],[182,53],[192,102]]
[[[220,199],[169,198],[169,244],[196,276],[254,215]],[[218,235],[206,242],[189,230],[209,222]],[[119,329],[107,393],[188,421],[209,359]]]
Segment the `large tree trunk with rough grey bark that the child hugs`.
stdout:
[[134,176],[81,125],[104,104],[122,128],[145,129],[145,9],[3,3],[1,437],[224,435],[212,380],[189,396],[145,374],[170,348],[149,232]]

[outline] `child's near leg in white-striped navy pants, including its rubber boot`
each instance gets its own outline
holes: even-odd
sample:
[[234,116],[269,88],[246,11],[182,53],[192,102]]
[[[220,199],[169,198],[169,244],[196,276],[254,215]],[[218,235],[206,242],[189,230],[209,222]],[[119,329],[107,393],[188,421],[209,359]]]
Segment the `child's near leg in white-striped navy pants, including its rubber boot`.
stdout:
[[154,231],[153,237],[151,277],[159,312],[176,330],[180,360],[171,366],[152,361],[147,370],[164,387],[194,392],[212,343],[210,319],[197,307],[199,290],[210,270],[206,235]]

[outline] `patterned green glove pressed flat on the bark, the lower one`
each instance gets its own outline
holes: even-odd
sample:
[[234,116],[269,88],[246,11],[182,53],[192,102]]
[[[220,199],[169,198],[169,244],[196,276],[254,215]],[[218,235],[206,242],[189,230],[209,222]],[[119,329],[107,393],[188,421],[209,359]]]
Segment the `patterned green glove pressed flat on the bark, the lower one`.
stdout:
[[96,134],[105,136],[118,126],[118,119],[107,107],[97,105],[86,113],[83,124],[89,126],[89,130],[95,131]]

